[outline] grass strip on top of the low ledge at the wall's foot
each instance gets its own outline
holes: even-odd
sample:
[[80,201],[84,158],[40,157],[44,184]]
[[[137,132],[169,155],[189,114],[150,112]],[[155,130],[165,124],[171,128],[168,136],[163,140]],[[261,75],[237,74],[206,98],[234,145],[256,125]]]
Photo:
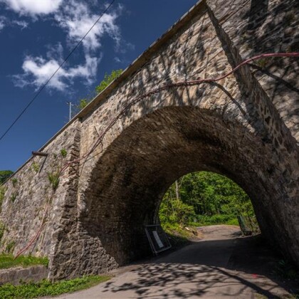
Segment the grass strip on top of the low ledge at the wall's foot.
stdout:
[[18,256],[15,259],[12,254],[0,255],[0,269],[13,268],[17,266],[26,268],[34,265],[48,266],[48,258],[36,258],[34,256]]

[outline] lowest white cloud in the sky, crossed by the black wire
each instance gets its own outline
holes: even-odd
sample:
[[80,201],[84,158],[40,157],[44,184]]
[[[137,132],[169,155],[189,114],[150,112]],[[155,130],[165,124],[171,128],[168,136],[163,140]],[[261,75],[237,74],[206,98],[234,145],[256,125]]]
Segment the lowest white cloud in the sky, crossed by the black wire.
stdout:
[[[83,78],[85,83],[93,83],[101,58],[86,56],[85,64],[74,68],[61,67],[56,75],[49,81],[48,87],[56,90],[65,90],[75,78]],[[14,84],[20,88],[32,85],[40,88],[51,75],[59,68],[61,63],[51,59],[46,61],[42,57],[27,56],[23,62],[23,74],[13,75]]]

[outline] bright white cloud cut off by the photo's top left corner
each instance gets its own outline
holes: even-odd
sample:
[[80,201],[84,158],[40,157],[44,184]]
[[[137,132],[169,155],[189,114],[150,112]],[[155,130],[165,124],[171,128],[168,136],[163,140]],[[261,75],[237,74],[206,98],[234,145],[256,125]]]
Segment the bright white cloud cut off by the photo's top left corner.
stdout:
[[1,0],[21,15],[45,15],[57,11],[62,0]]

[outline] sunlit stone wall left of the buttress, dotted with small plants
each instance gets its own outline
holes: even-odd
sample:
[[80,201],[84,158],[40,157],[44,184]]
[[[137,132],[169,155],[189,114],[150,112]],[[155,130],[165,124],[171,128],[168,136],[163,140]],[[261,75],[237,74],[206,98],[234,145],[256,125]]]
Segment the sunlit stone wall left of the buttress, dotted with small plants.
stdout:
[[[56,189],[49,176],[55,179],[61,167],[73,159],[73,147],[78,142],[79,122],[74,122],[52,142],[41,149],[48,157],[33,157],[9,179],[1,207],[5,225],[1,251],[18,253],[38,234],[41,234],[25,254],[48,256],[53,247],[53,235],[59,226],[65,196],[68,193],[68,169],[59,179]],[[65,157],[61,154],[65,150]],[[55,183],[54,183],[55,184]]]

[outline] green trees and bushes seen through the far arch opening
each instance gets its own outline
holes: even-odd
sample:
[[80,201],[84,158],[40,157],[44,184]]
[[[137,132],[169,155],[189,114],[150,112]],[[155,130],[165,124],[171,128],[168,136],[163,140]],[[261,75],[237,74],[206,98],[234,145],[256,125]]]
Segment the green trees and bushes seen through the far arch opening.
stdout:
[[159,209],[166,230],[177,226],[238,225],[238,215],[255,221],[251,200],[235,182],[214,172],[193,172],[174,182]]

